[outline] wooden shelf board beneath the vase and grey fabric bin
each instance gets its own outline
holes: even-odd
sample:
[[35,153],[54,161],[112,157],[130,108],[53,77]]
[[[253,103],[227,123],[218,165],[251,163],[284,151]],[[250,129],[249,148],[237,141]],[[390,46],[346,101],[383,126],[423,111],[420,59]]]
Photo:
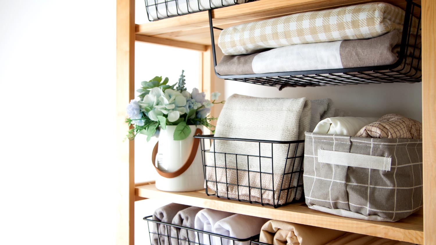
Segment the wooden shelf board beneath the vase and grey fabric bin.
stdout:
[[153,183],[136,185],[136,196],[172,201],[184,205],[295,222],[304,225],[378,236],[393,240],[424,244],[423,215],[418,211],[398,222],[375,222],[345,218],[316,211],[304,202],[280,208],[250,204],[226,198],[207,196],[204,190],[190,192],[159,191]]

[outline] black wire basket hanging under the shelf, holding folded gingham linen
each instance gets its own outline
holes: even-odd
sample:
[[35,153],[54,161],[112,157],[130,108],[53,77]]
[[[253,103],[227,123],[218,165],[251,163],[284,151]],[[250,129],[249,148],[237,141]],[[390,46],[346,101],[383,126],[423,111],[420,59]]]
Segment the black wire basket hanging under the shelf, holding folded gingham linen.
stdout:
[[[376,67],[354,67],[344,69],[330,69],[330,70],[303,70],[303,71],[289,71],[289,72],[276,72],[265,74],[245,74],[245,75],[220,75],[216,72],[218,78],[241,81],[252,84],[260,84],[266,86],[274,86],[282,90],[284,87],[307,87],[307,86],[326,86],[326,85],[344,85],[344,84],[370,84],[370,83],[393,83],[405,82],[416,83],[421,82],[422,77],[420,72],[413,71],[412,66],[405,66],[405,54],[409,53],[412,56],[411,64],[414,61],[419,67],[421,62],[421,46],[415,40],[414,45],[410,41],[411,35],[416,35],[421,31],[421,6],[414,3],[413,0],[405,0],[405,19],[402,31],[402,41],[400,45],[399,59],[395,64],[376,66]],[[412,33],[412,20],[418,22],[419,28],[416,32]],[[212,12],[209,11],[209,25],[212,42],[212,54],[214,67],[217,65],[214,29],[223,30],[214,27],[212,23]],[[410,42],[409,42],[410,41]],[[410,50],[412,49],[412,50]],[[410,55],[412,54],[412,55]],[[418,58],[416,58],[418,57]],[[415,64],[416,64],[415,63]]]

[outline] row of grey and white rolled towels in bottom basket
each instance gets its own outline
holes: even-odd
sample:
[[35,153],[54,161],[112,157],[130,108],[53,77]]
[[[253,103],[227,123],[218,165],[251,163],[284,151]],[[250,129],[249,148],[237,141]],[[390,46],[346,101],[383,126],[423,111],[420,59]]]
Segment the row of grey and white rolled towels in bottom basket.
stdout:
[[[172,220],[169,220],[174,216]],[[268,221],[249,215],[240,215],[209,208],[198,208],[171,203],[158,208],[153,214],[153,220],[194,228],[199,231],[211,232],[232,238],[245,239],[258,235],[262,225]],[[235,242],[218,236],[191,231],[174,226],[159,225],[152,227],[152,245],[249,245],[247,242]],[[168,233],[166,233],[168,230]]]

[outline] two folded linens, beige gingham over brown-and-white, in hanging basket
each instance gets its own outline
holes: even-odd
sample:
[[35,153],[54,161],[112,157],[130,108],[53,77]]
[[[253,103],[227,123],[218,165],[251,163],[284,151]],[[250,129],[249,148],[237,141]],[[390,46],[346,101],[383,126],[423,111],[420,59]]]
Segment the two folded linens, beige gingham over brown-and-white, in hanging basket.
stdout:
[[[219,36],[225,56],[215,69],[221,75],[240,75],[394,64],[404,17],[405,11],[391,4],[365,3],[229,27]],[[399,67],[420,77],[416,18],[411,33]]]

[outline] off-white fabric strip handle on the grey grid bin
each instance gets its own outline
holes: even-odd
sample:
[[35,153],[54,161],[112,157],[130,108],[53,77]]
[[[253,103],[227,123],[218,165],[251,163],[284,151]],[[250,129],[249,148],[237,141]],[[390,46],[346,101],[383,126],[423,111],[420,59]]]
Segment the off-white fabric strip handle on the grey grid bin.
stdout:
[[392,158],[318,149],[318,162],[390,171]]

